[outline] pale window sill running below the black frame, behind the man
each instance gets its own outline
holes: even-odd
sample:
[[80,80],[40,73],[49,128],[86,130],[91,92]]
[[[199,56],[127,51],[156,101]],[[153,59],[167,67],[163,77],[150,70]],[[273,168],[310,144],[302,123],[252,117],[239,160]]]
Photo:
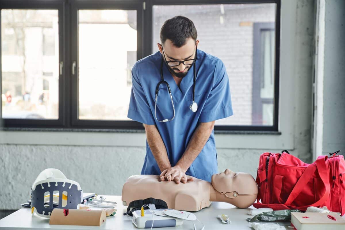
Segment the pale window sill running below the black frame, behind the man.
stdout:
[[[215,131],[217,149],[293,149],[288,132]],[[0,144],[146,147],[145,130],[1,128]]]

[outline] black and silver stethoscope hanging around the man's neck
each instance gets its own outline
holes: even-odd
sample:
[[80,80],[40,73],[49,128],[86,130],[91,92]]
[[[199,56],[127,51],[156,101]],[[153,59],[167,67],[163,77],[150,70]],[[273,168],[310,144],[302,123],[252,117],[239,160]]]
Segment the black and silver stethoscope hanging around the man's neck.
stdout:
[[[191,111],[193,111],[193,112],[196,112],[196,111],[198,110],[198,104],[194,101],[194,95],[195,95],[195,80],[196,80],[196,67],[195,67],[195,63],[196,63],[196,61],[194,62],[193,101],[192,101],[192,103],[191,103],[190,106],[189,106],[189,109],[190,109]],[[172,121],[172,120],[174,120],[174,118],[175,118],[175,106],[174,106],[174,101],[172,101],[172,95],[171,95],[171,90],[170,90],[169,83],[166,82],[166,81],[164,80],[164,77],[163,77],[163,59],[162,59],[161,65],[160,65],[160,78],[161,78],[161,81],[158,82],[157,87],[156,87],[155,117],[156,117],[156,120],[159,121],[159,122]],[[170,99],[171,99],[172,111],[174,111],[174,114],[173,114],[172,118],[170,118],[170,119],[163,119],[163,120],[161,120],[161,121],[158,120],[157,115],[156,115],[158,88],[159,88],[160,84],[166,84],[166,86],[167,86],[167,88],[168,88],[169,95],[170,95]]]

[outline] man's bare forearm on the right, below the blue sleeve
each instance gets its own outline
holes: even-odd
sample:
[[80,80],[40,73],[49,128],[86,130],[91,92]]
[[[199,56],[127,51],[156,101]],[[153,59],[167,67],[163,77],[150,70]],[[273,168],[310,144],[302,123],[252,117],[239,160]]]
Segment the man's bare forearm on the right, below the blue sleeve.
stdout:
[[195,158],[199,155],[204,148],[208,138],[211,135],[215,121],[200,123],[193,133],[191,140],[188,143],[186,151],[177,162],[176,165],[180,166],[184,171],[187,171],[189,166],[193,163]]

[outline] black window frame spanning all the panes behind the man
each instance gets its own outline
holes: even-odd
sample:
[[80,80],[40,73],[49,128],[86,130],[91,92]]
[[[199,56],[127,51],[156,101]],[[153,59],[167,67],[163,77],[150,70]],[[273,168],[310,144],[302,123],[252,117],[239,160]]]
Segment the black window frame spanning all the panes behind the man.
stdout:
[[[278,132],[279,101],[279,57],[280,57],[280,6],[281,0],[3,0],[0,9],[58,9],[59,10],[59,62],[63,62],[59,75],[59,118],[53,119],[3,119],[3,127],[16,128],[63,128],[63,129],[113,129],[144,130],[137,121],[124,120],[80,120],[78,119],[78,10],[79,9],[122,9],[137,10],[137,60],[152,53],[152,22],[154,5],[190,4],[247,4],[276,3],[275,18],[275,82],[273,126],[215,126],[216,132],[233,131]],[[144,9],[145,6],[145,9]],[[0,12],[1,19],[1,12]],[[0,24],[1,27],[1,24]],[[1,29],[1,28],[0,28]],[[1,31],[1,30],[0,30]],[[1,44],[1,36],[0,36]],[[1,45],[0,45],[1,55]],[[75,75],[72,75],[72,61],[76,60]],[[58,64],[58,63],[57,63]],[[0,63],[1,79],[1,63]],[[0,90],[1,88],[0,80]],[[0,108],[1,113],[2,106]]]

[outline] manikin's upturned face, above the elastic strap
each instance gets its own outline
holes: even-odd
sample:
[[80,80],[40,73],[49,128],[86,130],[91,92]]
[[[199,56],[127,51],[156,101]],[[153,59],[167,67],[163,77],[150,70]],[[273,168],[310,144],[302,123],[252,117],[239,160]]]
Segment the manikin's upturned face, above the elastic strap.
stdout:
[[218,192],[222,193],[234,191],[238,194],[257,193],[257,185],[252,175],[243,172],[236,173],[230,169],[214,174],[211,184]]

